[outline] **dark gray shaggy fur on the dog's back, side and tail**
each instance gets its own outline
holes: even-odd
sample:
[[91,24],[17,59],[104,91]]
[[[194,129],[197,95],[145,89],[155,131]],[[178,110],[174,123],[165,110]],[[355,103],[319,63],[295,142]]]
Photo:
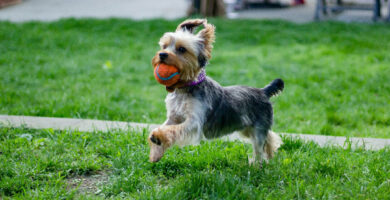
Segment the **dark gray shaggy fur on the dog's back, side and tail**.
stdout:
[[263,143],[272,125],[273,111],[269,98],[283,90],[281,79],[275,79],[263,89],[247,86],[222,87],[207,77],[186,92],[207,108],[203,133],[207,139],[233,131],[253,128]]

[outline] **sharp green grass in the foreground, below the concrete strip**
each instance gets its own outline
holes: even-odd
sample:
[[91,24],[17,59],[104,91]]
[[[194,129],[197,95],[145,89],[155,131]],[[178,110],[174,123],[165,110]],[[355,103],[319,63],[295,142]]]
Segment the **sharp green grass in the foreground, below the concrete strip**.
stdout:
[[[0,127],[3,199],[389,199],[390,149],[319,148],[284,138],[269,164],[248,164],[251,147],[212,141],[148,162],[145,133]],[[105,174],[91,191],[74,177]],[[99,181],[97,179],[96,181]],[[95,191],[99,191],[95,194]]]

